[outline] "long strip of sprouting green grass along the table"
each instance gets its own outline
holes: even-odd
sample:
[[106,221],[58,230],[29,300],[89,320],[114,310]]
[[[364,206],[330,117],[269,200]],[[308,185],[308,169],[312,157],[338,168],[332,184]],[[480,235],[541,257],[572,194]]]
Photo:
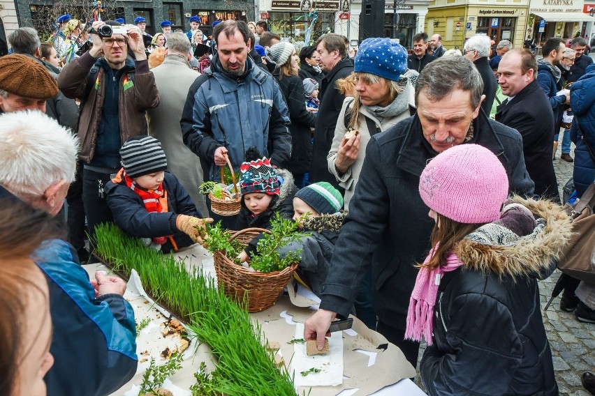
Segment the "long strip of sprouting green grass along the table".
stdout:
[[113,224],[96,228],[96,240],[98,254],[115,271],[129,276],[135,269],[147,293],[210,345],[217,360],[212,390],[239,396],[295,395],[291,375],[286,367],[275,367],[274,353],[261,344],[263,330],[251,322],[245,302],[238,305],[200,269],[187,271],[173,254],[147,248]]

